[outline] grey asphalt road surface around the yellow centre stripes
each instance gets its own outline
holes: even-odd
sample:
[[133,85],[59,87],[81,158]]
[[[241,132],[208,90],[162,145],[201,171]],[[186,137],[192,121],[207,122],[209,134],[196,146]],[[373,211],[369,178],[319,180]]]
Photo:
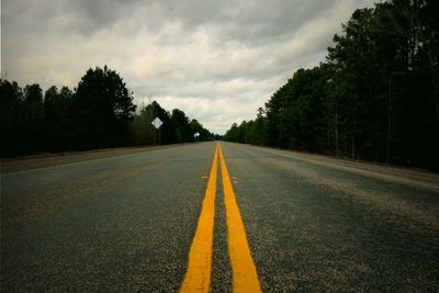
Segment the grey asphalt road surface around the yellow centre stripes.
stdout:
[[[1,292],[176,292],[216,143],[2,162]],[[262,291],[439,291],[439,176],[222,143]],[[212,292],[233,288],[218,166]]]

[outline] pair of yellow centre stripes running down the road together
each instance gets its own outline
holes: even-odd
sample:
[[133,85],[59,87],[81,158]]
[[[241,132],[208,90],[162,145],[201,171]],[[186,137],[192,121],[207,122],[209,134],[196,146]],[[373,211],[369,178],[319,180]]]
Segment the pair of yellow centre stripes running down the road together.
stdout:
[[247,241],[246,229],[243,218],[240,217],[239,207],[236,202],[235,192],[219,143],[217,143],[215,148],[207,189],[203,200],[203,207],[193,237],[189,253],[188,269],[180,292],[209,292],[211,286],[218,156],[223,176],[228,232],[228,253],[233,271],[233,290],[234,292],[261,292],[258,273]]

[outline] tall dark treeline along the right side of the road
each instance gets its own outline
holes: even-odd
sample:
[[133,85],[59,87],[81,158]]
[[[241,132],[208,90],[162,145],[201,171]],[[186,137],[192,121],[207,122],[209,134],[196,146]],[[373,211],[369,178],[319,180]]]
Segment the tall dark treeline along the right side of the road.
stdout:
[[326,61],[300,69],[225,139],[439,169],[439,1],[353,12]]

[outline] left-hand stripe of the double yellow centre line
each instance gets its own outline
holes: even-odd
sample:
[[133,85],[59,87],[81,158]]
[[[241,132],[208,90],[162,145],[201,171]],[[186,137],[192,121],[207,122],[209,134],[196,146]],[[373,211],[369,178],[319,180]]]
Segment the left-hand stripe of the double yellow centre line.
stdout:
[[211,288],[213,225],[215,221],[215,193],[218,146],[213,156],[211,174],[200,213],[195,236],[189,252],[189,263],[180,292],[209,292]]

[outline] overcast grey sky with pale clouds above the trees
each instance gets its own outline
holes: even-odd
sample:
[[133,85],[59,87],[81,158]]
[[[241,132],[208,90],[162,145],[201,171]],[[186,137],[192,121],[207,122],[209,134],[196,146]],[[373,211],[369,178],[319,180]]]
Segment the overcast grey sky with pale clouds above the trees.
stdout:
[[210,131],[256,116],[340,24],[376,0],[2,0],[1,74],[77,86],[108,65],[136,103],[179,108]]

